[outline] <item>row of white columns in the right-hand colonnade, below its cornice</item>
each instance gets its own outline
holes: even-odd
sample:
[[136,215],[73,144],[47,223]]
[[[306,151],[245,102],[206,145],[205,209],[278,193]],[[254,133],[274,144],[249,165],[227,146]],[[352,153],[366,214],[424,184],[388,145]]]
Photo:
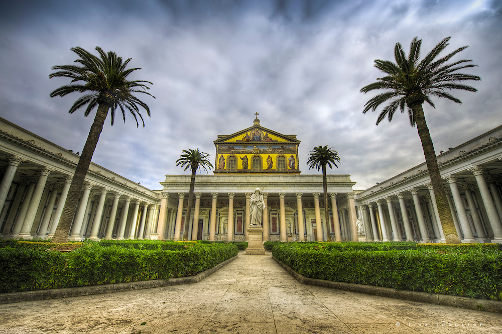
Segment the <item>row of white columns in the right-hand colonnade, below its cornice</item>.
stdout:
[[[443,177],[459,239],[463,243],[501,243],[500,176],[486,175],[481,165],[467,171],[475,177],[475,182],[465,182],[468,178],[465,174]],[[445,242],[430,182],[375,197],[359,200],[361,214],[368,220],[368,240]]]

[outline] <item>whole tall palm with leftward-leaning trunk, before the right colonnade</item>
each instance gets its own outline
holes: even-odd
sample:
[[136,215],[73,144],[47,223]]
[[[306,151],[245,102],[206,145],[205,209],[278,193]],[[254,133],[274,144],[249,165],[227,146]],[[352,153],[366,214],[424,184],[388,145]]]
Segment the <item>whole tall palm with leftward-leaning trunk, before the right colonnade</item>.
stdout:
[[374,66],[386,73],[387,76],[378,78],[378,81],[362,87],[361,92],[367,93],[375,89],[384,90],[384,92],[366,102],[363,114],[366,114],[368,110],[374,112],[380,104],[390,101],[380,113],[376,120],[376,125],[379,125],[386,117],[391,122],[398,108],[401,110],[401,113],[404,113],[405,107],[407,107],[410,124],[412,127],[417,126],[418,135],[422,141],[425,161],[431,177],[446,243],[458,244],[460,241],[453,224],[443,181],[439,173],[436,153],[429,128],[425,121],[424,109],[422,108],[424,102],[435,107],[431,101],[431,97],[442,97],[456,103],[462,103],[458,98],[453,97],[445,90],[461,89],[476,91],[474,87],[459,82],[481,80],[477,75],[457,73],[462,68],[475,67],[476,65],[470,64],[472,60],[462,59],[447,63],[454,55],[467,48],[467,46],[458,48],[446,56],[436,59],[449,45],[448,41],[450,38],[447,37],[439,42],[422,60],[420,60],[422,40],[417,40],[417,37],[412,40],[408,57],[406,57],[401,44],[397,43],[394,48],[396,63],[378,59],[374,61]]

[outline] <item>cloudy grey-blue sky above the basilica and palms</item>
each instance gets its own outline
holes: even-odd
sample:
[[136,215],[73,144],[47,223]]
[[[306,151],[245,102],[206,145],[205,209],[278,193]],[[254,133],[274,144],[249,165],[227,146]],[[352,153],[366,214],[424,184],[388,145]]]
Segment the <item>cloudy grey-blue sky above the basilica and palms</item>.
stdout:
[[[375,126],[362,114],[372,94],[360,88],[381,73],[374,59],[393,60],[413,37],[425,55],[452,36],[447,51],[482,80],[478,92],[452,92],[462,104],[425,106],[436,152],[500,125],[502,2],[483,0],[260,1],[120,0],[17,1],[0,12],[0,117],[66,149],[81,151],[92,117],[68,114],[78,98],[49,97],[68,79],[49,79],[51,67],[71,64],[71,47],[100,46],[132,58],[136,79],[152,81],[140,96],[152,112],[145,128],[131,115],[101,134],[93,162],[151,189],[166,174],[183,174],[183,149],[214,160],[217,135],[253,125],[296,134],[300,169],[309,151],[328,145],[354,189],[365,189],[424,161],[416,128],[406,115]],[[469,83],[469,82],[467,82]],[[329,171],[329,170],[328,170]],[[203,173],[205,173],[203,171]],[[210,172],[212,174],[212,172]]]

